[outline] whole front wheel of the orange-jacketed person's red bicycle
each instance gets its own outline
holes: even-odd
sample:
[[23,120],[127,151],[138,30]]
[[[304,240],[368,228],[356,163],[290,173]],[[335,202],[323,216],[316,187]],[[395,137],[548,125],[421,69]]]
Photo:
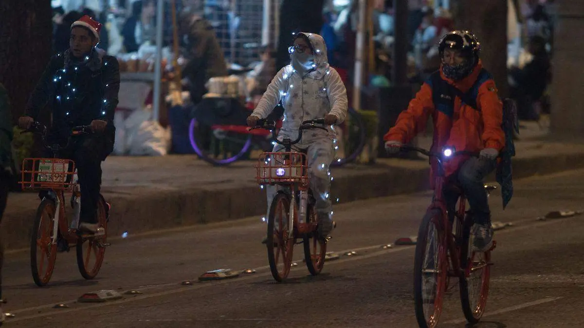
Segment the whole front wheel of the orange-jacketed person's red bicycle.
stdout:
[[418,231],[413,291],[420,328],[436,327],[442,313],[448,263],[445,239],[439,226],[441,220],[440,210],[430,210],[422,219]]

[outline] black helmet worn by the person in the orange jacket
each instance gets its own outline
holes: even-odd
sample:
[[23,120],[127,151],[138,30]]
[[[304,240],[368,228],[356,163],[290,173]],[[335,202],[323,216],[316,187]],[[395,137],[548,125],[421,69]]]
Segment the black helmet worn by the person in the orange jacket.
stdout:
[[443,64],[443,72],[447,78],[454,81],[463,79],[472,72],[477,65],[479,53],[481,52],[481,43],[474,34],[468,31],[452,31],[444,34],[438,45],[440,58],[444,56],[446,48],[460,50],[467,61],[462,65],[451,66]]

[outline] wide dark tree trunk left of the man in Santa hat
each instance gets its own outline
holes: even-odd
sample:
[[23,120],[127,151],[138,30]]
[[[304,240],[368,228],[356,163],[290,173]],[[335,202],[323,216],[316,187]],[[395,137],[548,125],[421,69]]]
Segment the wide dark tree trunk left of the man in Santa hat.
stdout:
[[51,12],[50,0],[0,0],[0,82],[15,124],[52,53]]

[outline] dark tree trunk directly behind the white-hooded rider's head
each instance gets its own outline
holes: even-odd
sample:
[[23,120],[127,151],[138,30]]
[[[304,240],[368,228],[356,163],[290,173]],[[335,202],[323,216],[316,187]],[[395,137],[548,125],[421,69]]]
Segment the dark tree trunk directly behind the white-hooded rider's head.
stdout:
[[280,37],[276,58],[278,71],[290,64],[288,47],[292,43],[292,32],[321,32],[324,3],[325,0],[283,0],[280,7]]

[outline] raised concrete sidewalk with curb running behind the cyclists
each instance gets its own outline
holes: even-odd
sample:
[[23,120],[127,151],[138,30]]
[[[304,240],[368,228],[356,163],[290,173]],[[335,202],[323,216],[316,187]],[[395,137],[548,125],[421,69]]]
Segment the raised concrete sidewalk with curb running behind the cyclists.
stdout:
[[[584,144],[540,141],[531,124],[516,142],[513,177],[519,179],[584,167]],[[419,146],[429,147],[429,138]],[[265,215],[266,199],[255,183],[255,162],[215,168],[193,155],[110,156],[103,163],[102,193],[112,204],[110,236]],[[375,165],[332,169],[331,200],[345,203],[412,193],[429,186],[427,159],[378,159]],[[495,200],[500,201],[500,200]],[[29,247],[39,198],[12,193],[2,220],[7,249]],[[69,210],[69,208],[68,208]]]

